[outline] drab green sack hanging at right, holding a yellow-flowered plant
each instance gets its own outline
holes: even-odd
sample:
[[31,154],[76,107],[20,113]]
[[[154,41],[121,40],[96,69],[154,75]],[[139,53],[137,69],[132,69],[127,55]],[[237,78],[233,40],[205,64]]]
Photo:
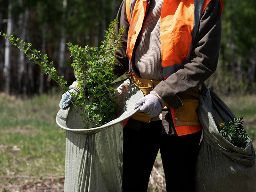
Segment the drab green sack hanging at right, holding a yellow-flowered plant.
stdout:
[[210,89],[200,96],[198,117],[203,140],[196,164],[196,192],[255,192],[256,164],[252,142],[245,149],[234,146],[218,131],[216,124],[235,115]]

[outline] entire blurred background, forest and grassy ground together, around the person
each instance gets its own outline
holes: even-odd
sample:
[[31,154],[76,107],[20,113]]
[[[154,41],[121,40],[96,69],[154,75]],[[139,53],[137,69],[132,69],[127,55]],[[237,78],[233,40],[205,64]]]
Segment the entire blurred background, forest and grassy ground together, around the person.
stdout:
[[[67,42],[99,46],[121,0],[0,0],[0,31],[32,43],[74,80]],[[222,39],[211,88],[239,117],[256,147],[256,1],[224,0]],[[61,94],[49,77],[0,36],[0,192],[64,191]],[[10,95],[11,94],[11,95]],[[165,191],[160,154],[148,192]]]

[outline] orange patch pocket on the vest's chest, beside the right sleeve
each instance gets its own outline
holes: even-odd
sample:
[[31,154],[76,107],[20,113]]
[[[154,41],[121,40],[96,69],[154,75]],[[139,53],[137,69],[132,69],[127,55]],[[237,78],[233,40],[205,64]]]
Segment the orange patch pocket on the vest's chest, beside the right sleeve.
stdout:
[[188,31],[173,31],[173,38],[175,60],[180,60],[182,62],[188,55]]

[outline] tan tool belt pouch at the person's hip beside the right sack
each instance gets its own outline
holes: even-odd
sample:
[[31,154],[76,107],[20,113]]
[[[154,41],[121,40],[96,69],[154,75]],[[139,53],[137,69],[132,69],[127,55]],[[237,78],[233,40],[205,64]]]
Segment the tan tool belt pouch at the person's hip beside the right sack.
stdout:
[[175,109],[175,126],[201,125],[196,109],[200,101],[197,99],[182,99],[183,105]]

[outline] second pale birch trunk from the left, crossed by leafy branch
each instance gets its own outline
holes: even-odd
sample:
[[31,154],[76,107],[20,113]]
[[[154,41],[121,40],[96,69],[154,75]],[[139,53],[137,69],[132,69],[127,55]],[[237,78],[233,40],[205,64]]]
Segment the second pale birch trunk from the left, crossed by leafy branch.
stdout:
[[[26,33],[28,30],[28,19],[29,19],[29,10],[26,8],[25,16],[23,13],[20,13],[19,16],[19,28],[21,31],[20,38],[22,40],[26,40]],[[18,92],[22,93],[22,88],[24,86],[24,71],[26,67],[25,54],[23,52],[19,52],[18,57]]]

